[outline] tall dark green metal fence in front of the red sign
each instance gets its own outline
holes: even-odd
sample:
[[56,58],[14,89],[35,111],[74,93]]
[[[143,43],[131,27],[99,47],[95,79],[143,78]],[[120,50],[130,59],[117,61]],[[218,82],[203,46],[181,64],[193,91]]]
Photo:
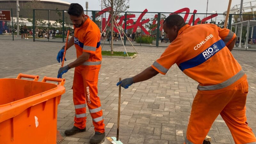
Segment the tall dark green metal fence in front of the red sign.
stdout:
[[[111,44],[110,14],[107,11],[84,11],[98,25],[102,34],[101,44]],[[163,21],[171,12],[118,12],[114,22],[115,45],[168,46],[169,40],[163,31]],[[225,14],[217,13],[177,13],[189,25],[212,23],[224,27]],[[230,14],[228,29],[236,33],[237,50],[256,50],[256,15]],[[67,10],[33,10],[33,40],[65,42],[67,30],[74,34]],[[119,27],[119,28],[117,28]],[[105,29],[105,30],[104,30]],[[103,32],[104,30],[104,32]],[[119,32],[120,34],[119,34]],[[56,33],[55,37],[53,33]],[[126,37],[127,36],[127,37]],[[123,42],[122,42],[123,40]],[[130,42],[131,41],[131,42]],[[255,45],[255,48],[254,48]]]

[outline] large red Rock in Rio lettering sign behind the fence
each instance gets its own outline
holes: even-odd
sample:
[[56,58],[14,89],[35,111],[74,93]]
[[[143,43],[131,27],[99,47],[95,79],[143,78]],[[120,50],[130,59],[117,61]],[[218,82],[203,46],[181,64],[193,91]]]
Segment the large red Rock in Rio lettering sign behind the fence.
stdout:
[[[107,11],[110,11],[110,10],[111,10],[111,7],[108,7],[108,8],[106,8],[106,9],[103,9],[102,11],[96,13],[96,14],[95,14],[95,17],[98,17],[98,16],[100,16],[101,14],[103,14],[103,13],[105,13],[105,12],[107,12]],[[140,16],[139,16],[138,19],[135,21],[135,23],[134,23],[134,20],[132,19],[132,18],[135,18],[135,17],[136,17],[135,14],[126,15],[126,19],[127,19],[127,21],[126,21],[126,25],[127,25],[127,26],[126,26],[126,29],[131,29],[131,28],[133,28],[133,32],[136,32],[136,31],[137,31],[137,28],[140,27],[146,35],[150,35],[150,33],[148,32],[148,30],[143,27],[143,24],[148,23],[148,22],[150,21],[150,19],[141,20],[142,17],[143,17],[147,12],[148,12],[148,10],[145,9],[145,10],[140,14]],[[171,14],[184,13],[185,15],[184,15],[183,19],[184,19],[184,21],[186,22],[187,19],[188,19],[188,16],[189,16],[189,12],[190,12],[189,8],[182,8],[182,9],[180,9],[180,10],[178,10],[178,11],[175,11],[175,12],[173,12],[173,13],[171,13]],[[196,14],[196,12],[197,12],[197,10],[194,10],[194,11],[193,11],[193,14]],[[171,15],[171,14],[170,14],[170,15]],[[193,22],[193,17],[194,17],[193,14],[190,14],[191,17],[190,17],[190,19],[189,19],[189,21],[188,21],[188,25],[191,25],[192,22]],[[202,20],[201,20],[201,24],[203,24],[206,20],[210,20],[210,19],[212,19],[212,18],[214,18],[214,17],[217,17],[217,16],[218,16],[217,13],[212,14],[212,15],[210,15],[210,16],[208,16],[208,17],[202,19]],[[156,22],[157,22],[158,15],[156,14],[156,15],[154,16],[154,18],[155,18],[155,19],[153,20],[152,24],[153,24],[153,25],[156,25],[156,24],[157,24]],[[115,20],[117,21],[118,19],[119,19],[119,22],[118,22],[117,24],[118,24],[119,26],[122,26],[122,28],[124,28],[124,25],[125,25],[125,24],[123,24],[123,21],[124,21],[124,19],[125,19],[125,16],[121,16],[120,18],[119,18],[119,16],[116,16],[116,17],[115,17]],[[110,20],[110,14],[109,14],[109,16],[108,16],[108,21],[109,21],[109,20]],[[106,18],[102,18],[102,29],[105,29],[106,24],[108,23],[108,21],[106,21]],[[197,18],[197,19],[194,21],[194,25],[197,25],[197,23],[198,23],[199,21],[200,21],[200,18]],[[160,31],[163,30],[163,23],[164,23],[164,20],[163,20],[163,19],[160,19],[160,29],[159,29]],[[122,25],[122,24],[123,24],[123,25]],[[111,24],[108,23],[108,26],[110,26],[110,25],[111,25]],[[114,25],[116,26],[115,22],[114,22]],[[155,30],[156,28],[157,28],[157,26],[154,27],[154,28],[152,28],[151,30],[153,31],[153,30]],[[115,27],[114,27],[114,31],[115,31],[115,32],[118,32],[118,30],[117,30]]]

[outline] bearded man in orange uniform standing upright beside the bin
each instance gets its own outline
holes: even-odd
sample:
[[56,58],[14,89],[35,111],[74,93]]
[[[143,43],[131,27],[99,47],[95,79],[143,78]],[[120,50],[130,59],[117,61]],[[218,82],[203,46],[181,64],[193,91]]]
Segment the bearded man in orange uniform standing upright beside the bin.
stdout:
[[[73,101],[75,105],[74,127],[65,131],[66,135],[86,131],[86,104],[92,116],[95,135],[90,143],[100,143],[105,139],[105,128],[102,117],[100,98],[98,97],[98,75],[101,66],[100,29],[84,14],[80,4],[70,4],[69,18],[74,25],[74,36],[68,41],[67,49],[75,44],[77,59],[60,68],[58,78],[70,68],[75,68],[73,81]],[[62,61],[64,47],[57,60]]]

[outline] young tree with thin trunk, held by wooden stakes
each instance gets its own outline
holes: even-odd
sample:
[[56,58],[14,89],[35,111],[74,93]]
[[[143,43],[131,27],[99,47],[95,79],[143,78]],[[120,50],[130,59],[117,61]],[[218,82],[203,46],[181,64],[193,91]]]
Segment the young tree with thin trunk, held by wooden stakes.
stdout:
[[113,54],[113,30],[114,30],[114,20],[120,12],[126,11],[129,6],[130,0],[102,0],[102,7],[109,8],[109,13],[111,14],[111,54]]

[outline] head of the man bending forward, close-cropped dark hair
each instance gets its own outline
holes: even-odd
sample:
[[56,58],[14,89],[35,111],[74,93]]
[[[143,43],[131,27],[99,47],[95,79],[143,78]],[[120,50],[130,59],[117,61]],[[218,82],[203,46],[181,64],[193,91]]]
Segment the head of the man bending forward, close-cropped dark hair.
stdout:
[[170,42],[176,39],[178,36],[178,32],[180,28],[185,26],[185,22],[183,18],[178,14],[169,15],[164,20],[164,32],[166,33],[167,37],[169,38]]

